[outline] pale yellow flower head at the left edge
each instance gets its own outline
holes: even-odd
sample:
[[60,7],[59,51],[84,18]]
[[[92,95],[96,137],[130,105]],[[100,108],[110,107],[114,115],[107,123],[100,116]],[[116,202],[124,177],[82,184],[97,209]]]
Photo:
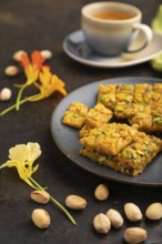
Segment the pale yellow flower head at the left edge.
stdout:
[[38,170],[38,164],[33,166],[33,162],[41,155],[40,145],[38,143],[29,142],[26,144],[19,144],[9,150],[9,160],[0,166],[13,167],[16,166],[19,176],[28,183],[31,187],[37,189],[30,177]]

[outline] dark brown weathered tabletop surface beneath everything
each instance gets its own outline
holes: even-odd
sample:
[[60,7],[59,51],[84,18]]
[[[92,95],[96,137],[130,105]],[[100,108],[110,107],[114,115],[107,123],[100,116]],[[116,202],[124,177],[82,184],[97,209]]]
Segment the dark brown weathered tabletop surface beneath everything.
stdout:
[[[49,64],[64,82],[68,92],[98,80],[117,77],[162,78],[162,73],[152,70],[150,62],[123,69],[98,69],[77,63],[62,50],[67,34],[80,29],[80,9],[88,0],[0,0],[0,89],[9,87],[13,91],[12,100],[0,103],[0,110],[14,102],[17,89],[13,83],[24,81],[23,74],[7,78],[4,68],[14,64],[12,54],[20,49],[28,51],[49,49],[53,58]],[[161,0],[128,0],[143,12],[143,22],[150,24]],[[29,91],[30,92],[30,91]],[[123,213],[123,204],[136,203],[144,213],[152,202],[161,202],[161,187],[143,187],[105,181],[74,165],[54,144],[50,132],[52,111],[61,100],[53,96],[33,104],[24,104],[20,112],[14,111],[0,118],[0,162],[8,159],[8,150],[20,143],[38,142],[42,155],[38,160],[40,167],[34,179],[48,186],[51,194],[64,204],[69,194],[79,194],[87,199],[88,206],[82,212],[72,212],[78,222],[73,226],[51,203],[47,209],[52,224],[47,231],[37,228],[31,222],[31,212],[40,207],[30,201],[31,189],[18,176],[14,169],[0,172],[0,243],[22,244],[120,244],[123,242],[125,227],[132,224],[125,218],[121,230],[111,230],[103,236],[93,231],[92,220],[99,212],[115,207]],[[110,189],[108,201],[99,203],[93,191],[99,183]],[[148,230],[145,243],[162,243],[162,223],[148,222],[145,218],[135,226]]]

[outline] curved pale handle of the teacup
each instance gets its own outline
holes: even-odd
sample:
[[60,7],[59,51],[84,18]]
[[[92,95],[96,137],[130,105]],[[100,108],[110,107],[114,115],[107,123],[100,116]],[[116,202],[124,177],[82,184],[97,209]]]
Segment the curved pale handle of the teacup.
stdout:
[[[136,37],[136,31],[138,31],[138,37]],[[140,34],[142,34],[144,37],[144,38],[142,38],[142,40],[141,40]],[[133,53],[133,52],[141,51],[151,42],[152,38],[153,38],[153,32],[149,26],[146,26],[144,23],[134,24],[133,35],[132,35],[132,41],[131,41],[130,47],[133,44],[136,44],[138,42],[140,43],[140,41],[142,41],[142,44],[140,44],[140,47],[134,48],[134,49],[130,49],[130,47],[129,47],[125,52]],[[144,39],[144,43],[143,43],[143,39]]]

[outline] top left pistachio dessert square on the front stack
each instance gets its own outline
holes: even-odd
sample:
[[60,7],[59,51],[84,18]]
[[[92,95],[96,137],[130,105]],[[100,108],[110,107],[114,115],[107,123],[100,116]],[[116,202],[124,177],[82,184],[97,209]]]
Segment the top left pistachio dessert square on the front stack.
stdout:
[[136,133],[136,129],[126,124],[108,123],[91,130],[80,139],[80,143],[105,155],[117,155]]

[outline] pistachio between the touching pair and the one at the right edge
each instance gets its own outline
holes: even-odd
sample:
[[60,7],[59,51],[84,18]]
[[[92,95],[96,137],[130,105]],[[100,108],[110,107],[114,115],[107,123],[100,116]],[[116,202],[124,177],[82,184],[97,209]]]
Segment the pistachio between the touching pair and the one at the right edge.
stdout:
[[124,204],[124,213],[130,221],[136,222],[142,220],[141,210],[134,203]]

